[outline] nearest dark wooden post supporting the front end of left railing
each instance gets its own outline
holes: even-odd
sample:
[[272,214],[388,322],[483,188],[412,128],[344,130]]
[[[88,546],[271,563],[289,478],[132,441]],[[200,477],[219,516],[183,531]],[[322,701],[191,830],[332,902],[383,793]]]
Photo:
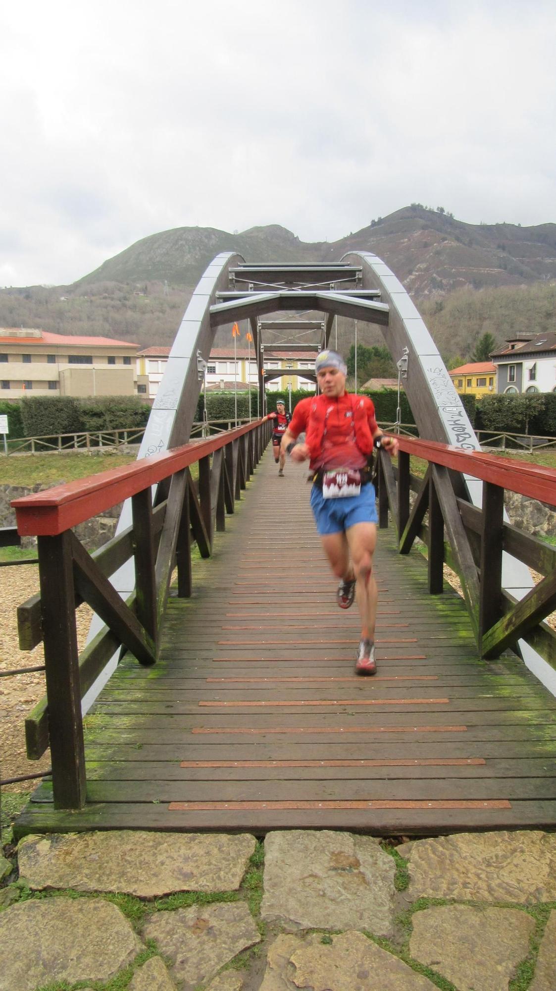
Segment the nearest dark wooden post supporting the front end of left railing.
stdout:
[[85,805],[87,785],[71,536],[71,531],[65,530],[55,537],[38,539],[48,732],[56,809],[81,809]]

